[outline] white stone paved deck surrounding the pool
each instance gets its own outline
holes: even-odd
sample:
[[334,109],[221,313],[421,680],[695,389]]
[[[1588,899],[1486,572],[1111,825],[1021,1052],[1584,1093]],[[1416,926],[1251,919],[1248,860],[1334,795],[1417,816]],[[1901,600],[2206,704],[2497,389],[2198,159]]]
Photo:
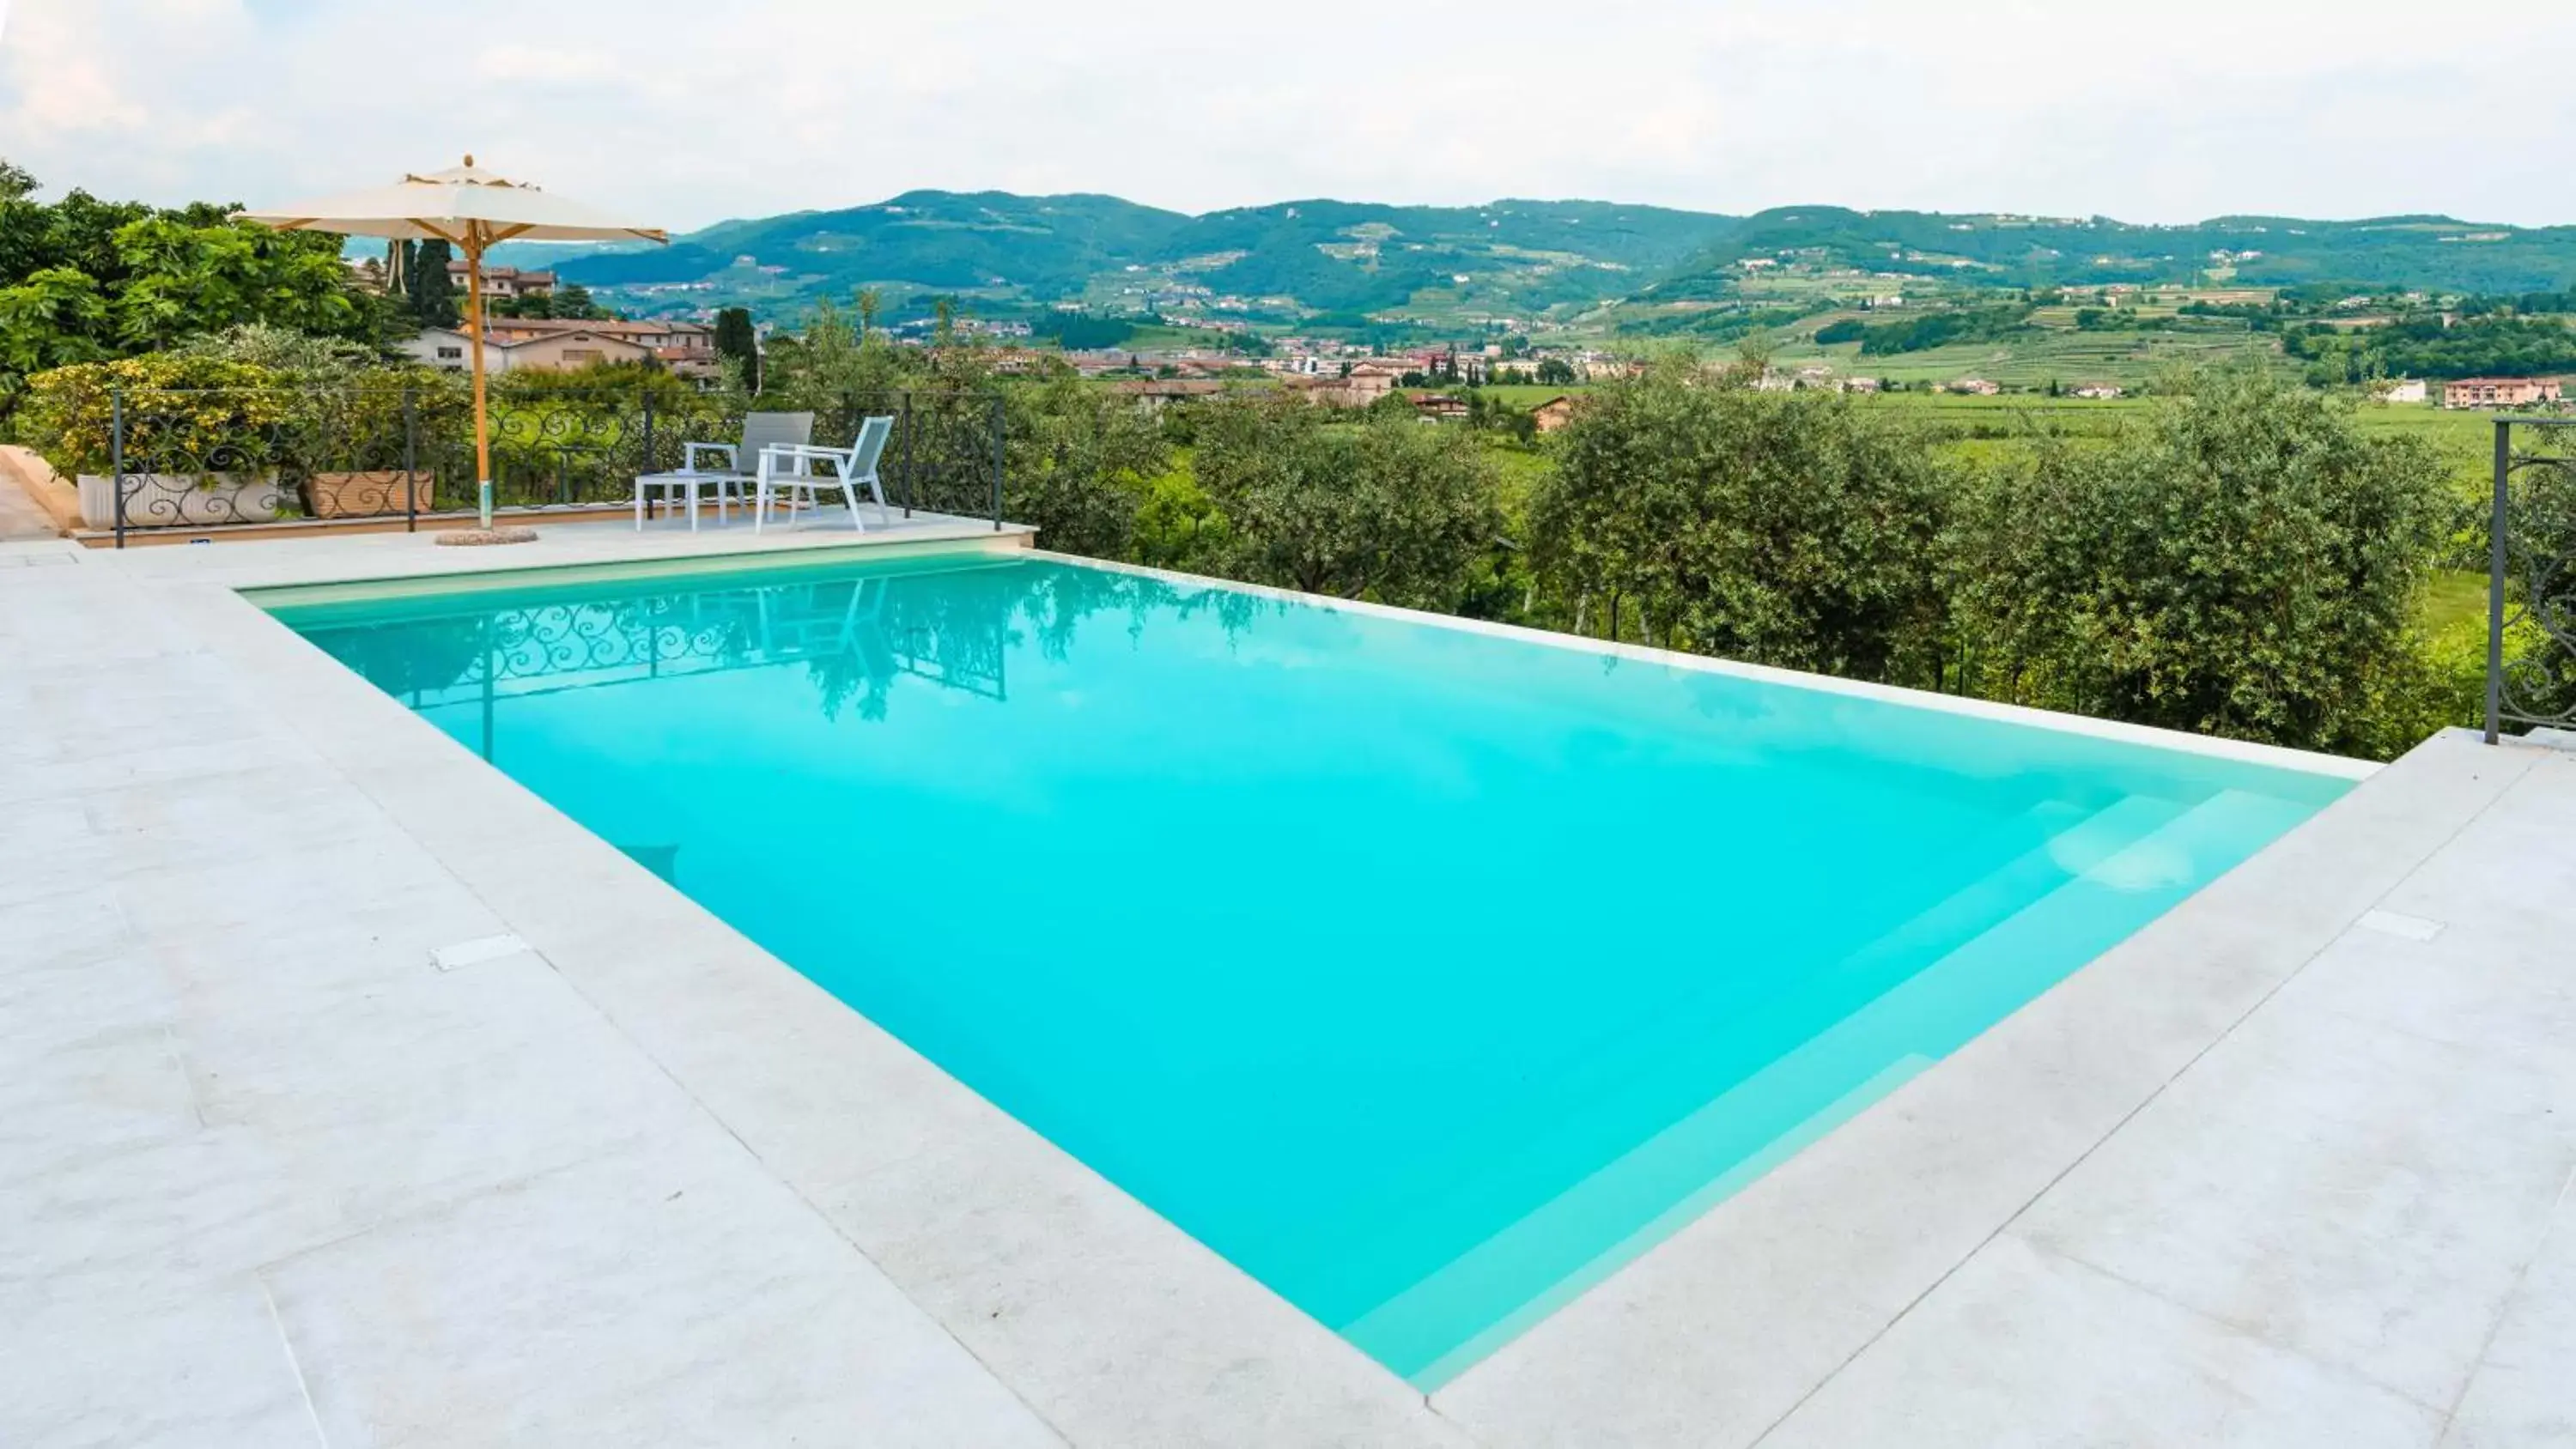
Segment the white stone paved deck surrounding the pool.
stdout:
[[232,595],[747,543],[0,546],[0,1444],[2576,1444],[2576,754],[2429,741],[1425,1400]]

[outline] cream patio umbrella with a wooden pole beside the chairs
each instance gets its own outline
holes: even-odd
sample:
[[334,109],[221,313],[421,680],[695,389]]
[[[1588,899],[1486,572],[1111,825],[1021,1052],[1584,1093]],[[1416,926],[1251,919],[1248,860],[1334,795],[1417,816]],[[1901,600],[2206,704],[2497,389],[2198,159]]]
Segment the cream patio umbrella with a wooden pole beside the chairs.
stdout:
[[273,211],[237,211],[234,221],[278,232],[337,232],[343,237],[394,237],[446,242],[466,255],[466,342],[474,350],[474,476],[482,528],[492,533],[492,427],[484,412],[482,255],[495,242],[670,242],[657,226],[629,226],[598,211],[466,165],[404,175],[394,185],[299,201]]

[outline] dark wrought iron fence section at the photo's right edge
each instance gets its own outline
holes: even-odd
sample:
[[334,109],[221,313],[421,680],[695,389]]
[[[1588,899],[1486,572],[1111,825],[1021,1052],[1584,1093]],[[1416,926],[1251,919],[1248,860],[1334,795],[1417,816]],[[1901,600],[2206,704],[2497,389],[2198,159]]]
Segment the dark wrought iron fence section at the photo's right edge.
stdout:
[[2576,420],[2496,420],[2486,548],[2486,741],[2576,728]]

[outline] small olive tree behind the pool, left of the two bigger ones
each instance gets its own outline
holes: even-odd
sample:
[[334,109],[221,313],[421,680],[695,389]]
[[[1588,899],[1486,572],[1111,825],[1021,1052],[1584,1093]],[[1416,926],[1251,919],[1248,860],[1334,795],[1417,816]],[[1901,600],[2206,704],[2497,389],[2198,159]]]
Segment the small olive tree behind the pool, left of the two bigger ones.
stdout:
[[1229,399],[1200,409],[1193,463],[1236,579],[1453,610],[1494,569],[1494,474],[1466,430]]

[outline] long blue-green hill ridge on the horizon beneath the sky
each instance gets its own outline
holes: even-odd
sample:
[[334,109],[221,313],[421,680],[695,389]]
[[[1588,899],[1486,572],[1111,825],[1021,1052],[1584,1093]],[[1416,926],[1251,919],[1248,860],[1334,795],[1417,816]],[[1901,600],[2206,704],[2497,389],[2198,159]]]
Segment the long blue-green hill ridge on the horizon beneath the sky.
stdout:
[[[909,190],[840,211],[721,221],[659,250],[551,257],[644,311],[747,304],[793,317],[873,286],[896,317],[925,311],[930,296],[961,296],[1005,319],[1084,306],[1275,327],[1528,327],[1577,317],[1677,324],[1695,306],[1811,309],[1783,296],[1783,278],[1880,278],[1945,293],[2110,283],[2522,293],[2576,281],[2576,226],[2450,216],[2161,226],[1844,206],[1718,216],[1607,201],[1329,198],[1188,216],[1115,196]],[[1602,304],[1625,306],[1602,314]]]

